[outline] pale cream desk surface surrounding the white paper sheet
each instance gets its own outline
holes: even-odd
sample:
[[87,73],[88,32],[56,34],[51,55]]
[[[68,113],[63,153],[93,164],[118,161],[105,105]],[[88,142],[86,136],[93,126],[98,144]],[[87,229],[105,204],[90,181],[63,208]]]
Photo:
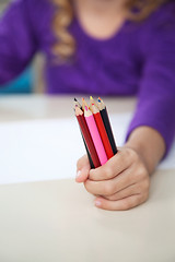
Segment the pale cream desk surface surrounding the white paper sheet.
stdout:
[[[135,108],[130,98],[105,102],[109,112]],[[72,117],[71,103],[65,96],[0,97],[0,122]],[[156,171],[149,201],[125,212],[94,207],[72,179],[0,186],[0,261],[174,262],[174,184],[175,170]]]

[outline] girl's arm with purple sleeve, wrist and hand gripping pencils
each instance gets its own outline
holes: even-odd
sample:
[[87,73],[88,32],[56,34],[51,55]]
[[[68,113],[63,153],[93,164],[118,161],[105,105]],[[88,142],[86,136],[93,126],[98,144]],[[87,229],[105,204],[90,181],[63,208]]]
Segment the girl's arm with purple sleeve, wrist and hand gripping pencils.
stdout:
[[126,145],[100,168],[90,170],[86,157],[78,162],[77,181],[83,181],[92,194],[101,195],[96,198],[101,209],[128,210],[144,202],[149,196],[150,175],[173,143],[174,32],[175,16],[170,8],[150,24],[149,37],[142,37],[144,66]]

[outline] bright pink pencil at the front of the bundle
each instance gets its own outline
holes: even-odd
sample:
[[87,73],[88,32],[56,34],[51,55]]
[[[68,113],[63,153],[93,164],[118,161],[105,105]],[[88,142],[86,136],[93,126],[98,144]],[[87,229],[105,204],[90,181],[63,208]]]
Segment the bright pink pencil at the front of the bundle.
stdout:
[[105,148],[103,146],[101,135],[98,133],[93,114],[86,106],[85,106],[84,109],[85,109],[84,110],[85,121],[88,123],[92,140],[94,142],[95,150],[97,152],[101,165],[104,165],[107,162],[107,156],[106,156],[106,152],[105,152]]

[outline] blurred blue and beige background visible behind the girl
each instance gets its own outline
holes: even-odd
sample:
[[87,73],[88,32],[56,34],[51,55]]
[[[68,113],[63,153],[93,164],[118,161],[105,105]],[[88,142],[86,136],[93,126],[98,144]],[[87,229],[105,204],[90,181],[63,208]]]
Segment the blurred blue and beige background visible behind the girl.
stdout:
[[[0,0],[0,16],[11,0]],[[43,58],[37,55],[32,64],[14,81],[0,86],[0,95],[44,93]]]

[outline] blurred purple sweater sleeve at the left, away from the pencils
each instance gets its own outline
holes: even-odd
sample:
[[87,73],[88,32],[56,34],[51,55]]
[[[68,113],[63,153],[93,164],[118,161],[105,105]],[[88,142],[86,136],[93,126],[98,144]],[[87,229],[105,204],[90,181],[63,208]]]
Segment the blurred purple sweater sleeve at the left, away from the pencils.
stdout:
[[26,2],[12,1],[0,19],[0,84],[18,76],[37,49]]

